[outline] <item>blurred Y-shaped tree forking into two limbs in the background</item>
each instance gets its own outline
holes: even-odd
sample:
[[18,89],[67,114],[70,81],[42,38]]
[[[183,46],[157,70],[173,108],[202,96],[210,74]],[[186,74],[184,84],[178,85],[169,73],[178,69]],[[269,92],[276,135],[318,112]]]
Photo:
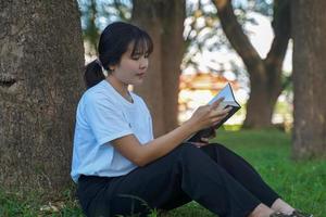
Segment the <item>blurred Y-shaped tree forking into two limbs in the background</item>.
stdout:
[[212,2],[218,11],[226,37],[242,59],[249,74],[250,97],[243,127],[271,127],[274,106],[286,84],[281,80],[281,68],[291,29],[289,0],[274,0],[272,25],[275,37],[265,59],[260,56],[243,33],[234,13],[231,0]]

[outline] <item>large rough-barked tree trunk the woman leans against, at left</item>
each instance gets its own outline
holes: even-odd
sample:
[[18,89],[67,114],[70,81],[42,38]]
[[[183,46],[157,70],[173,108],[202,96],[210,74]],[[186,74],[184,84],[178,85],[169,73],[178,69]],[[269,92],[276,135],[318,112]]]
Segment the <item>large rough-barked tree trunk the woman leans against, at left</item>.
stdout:
[[0,2],[0,182],[48,195],[70,183],[84,48],[76,1]]

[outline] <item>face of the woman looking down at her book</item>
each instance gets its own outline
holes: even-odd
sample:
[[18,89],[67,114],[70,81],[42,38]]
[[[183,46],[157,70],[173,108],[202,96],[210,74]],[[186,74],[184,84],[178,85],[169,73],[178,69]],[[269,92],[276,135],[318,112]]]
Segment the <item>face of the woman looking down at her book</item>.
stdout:
[[129,46],[127,52],[125,52],[120,64],[114,66],[112,75],[120,81],[126,85],[140,85],[148,68],[148,54],[147,53],[133,53],[134,46]]

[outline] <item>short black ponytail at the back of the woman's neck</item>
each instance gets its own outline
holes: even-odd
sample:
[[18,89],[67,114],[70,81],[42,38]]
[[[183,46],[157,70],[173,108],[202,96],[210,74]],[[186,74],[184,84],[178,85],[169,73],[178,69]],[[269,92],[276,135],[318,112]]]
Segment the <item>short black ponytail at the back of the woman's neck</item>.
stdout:
[[103,74],[102,67],[97,60],[90,62],[85,67],[84,81],[87,89],[104,80],[105,76]]

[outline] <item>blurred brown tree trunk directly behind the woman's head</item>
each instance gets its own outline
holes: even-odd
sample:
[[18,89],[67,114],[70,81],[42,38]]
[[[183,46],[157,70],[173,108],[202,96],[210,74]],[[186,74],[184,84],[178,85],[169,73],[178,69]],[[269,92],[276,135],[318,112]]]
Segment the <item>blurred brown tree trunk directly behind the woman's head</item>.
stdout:
[[184,55],[185,0],[134,0],[133,23],[152,37],[154,51],[145,84],[135,87],[153,116],[155,136],[177,126],[178,84]]

